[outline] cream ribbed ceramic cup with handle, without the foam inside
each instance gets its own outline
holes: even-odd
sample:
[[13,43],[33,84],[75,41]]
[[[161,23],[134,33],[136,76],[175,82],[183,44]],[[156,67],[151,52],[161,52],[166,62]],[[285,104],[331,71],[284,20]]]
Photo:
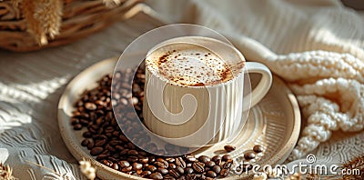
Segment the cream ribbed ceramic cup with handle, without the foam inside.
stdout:
[[[233,69],[238,71],[230,71],[233,77],[229,80],[214,85],[177,85],[162,77],[159,73],[163,72],[158,73],[157,66],[150,62],[172,49],[177,53],[183,51],[183,48],[178,48],[184,45],[205,48],[230,67],[244,66]],[[244,101],[245,70],[262,75],[250,93],[251,106],[257,105],[272,83],[272,75],[266,65],[246,62],[234,46],[209,37],[177,37],[156,45],[146,57],[145,125],[168,143],[187,147],[213,145],[229,135],[238,134],[241,129],[237,127],[246,123],[242,112],[247,110],[247,105],[243,104],[250,103]]]

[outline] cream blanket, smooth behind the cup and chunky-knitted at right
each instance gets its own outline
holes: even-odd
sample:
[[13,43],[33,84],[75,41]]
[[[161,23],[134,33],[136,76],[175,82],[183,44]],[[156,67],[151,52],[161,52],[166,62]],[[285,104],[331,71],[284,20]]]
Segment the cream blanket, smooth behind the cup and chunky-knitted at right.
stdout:
[[335,131],[363,130],[364,15],[335,0],[225,2],[157,7],[177,21],[222,32],[248,60],[286,80],[308,121],[289,160],[307,155]]

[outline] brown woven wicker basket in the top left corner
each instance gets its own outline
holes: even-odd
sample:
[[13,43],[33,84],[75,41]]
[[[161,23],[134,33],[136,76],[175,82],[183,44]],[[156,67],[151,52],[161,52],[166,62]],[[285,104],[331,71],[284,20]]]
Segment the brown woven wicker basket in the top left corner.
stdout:
[[[54,0],[61,1],[59,5],[62,9],[58,22],[60,25],[43,36],[36,35],[37,32],[32,31],[23,11],[25,1],[28,1],[26,2],[28,4],[35,4],[35,0],[0,0],[0,48],[26,52],[72,43],[104,29],[117,20],[126,19],[126,13],[143,0],[107,1],[114,3],[111,6],[106,4],[106,0]],[[51,13],[56,14],[53,9]]]

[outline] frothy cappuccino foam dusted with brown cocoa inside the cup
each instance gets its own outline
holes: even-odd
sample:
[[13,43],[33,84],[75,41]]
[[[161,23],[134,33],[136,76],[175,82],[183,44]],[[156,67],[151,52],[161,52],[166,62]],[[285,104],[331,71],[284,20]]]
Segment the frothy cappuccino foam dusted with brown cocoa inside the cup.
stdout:
[[147,68],[159,78],[186,86],[218,85],[240,72],[244,62],[227,65],[214,52],[192,44],[165,45],[146,58]]

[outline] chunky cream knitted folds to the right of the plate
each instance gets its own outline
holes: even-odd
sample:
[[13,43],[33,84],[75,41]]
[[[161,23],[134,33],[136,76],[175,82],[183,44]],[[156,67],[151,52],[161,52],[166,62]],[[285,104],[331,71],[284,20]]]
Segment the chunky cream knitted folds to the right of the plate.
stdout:
[[289,160],[307,155],[333,131],[363,129],[364,63],[358,58],[311,51],[269,57],[266,63],[288,81],[308,120]]

